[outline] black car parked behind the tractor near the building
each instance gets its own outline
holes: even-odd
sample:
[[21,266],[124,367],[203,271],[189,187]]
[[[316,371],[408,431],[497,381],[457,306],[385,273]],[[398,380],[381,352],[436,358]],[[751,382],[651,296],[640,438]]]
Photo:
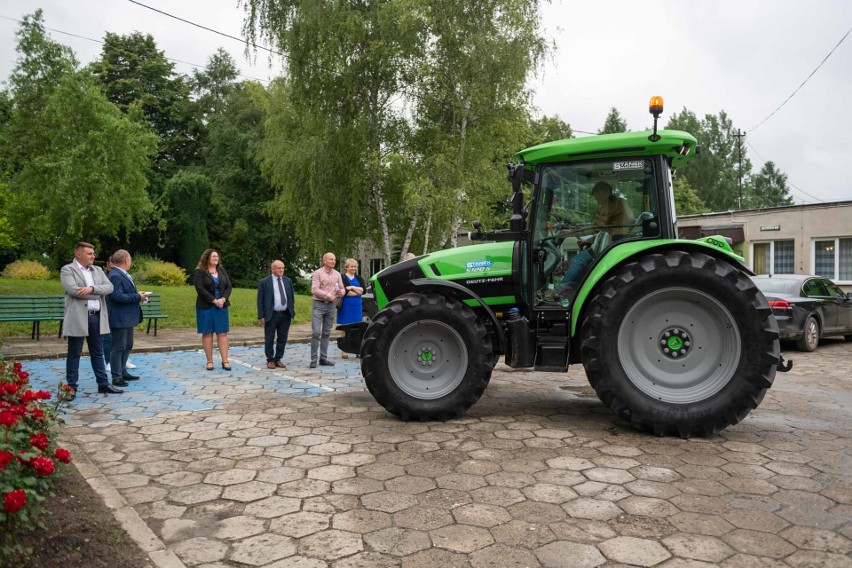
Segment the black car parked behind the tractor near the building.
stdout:
[[852,293],[828,278],[775,274],[752,280],[769,301],[782,341],[795,341],[800,351],[813,351],[828,335],[852,341]]

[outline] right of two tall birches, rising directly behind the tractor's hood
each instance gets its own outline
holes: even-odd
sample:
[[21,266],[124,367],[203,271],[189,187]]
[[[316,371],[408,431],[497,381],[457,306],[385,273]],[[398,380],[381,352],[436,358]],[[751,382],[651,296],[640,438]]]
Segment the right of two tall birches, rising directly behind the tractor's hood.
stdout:
[[[535,0],[424,3],[428,38],[416,83],[416,155],[434,191],[425,223],[455,245],[463,222],[495,216],[505,202],[505,170],[523,146],[529,118],[525,83],[546,51]],[[438,215],[450,211],[449,219]],[[502,220],[502,219],[501,219]]]

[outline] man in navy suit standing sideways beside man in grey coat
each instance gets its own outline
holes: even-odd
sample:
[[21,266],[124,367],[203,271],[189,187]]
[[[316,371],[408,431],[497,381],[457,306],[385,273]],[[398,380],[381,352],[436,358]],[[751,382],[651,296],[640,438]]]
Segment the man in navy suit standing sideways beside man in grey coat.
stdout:
[[133,349],[133,330],[142,321],[140,302],[148,297],[136,290],[136,284],[128,272],[133,264],[130,253],[124,249],[115,251],[112,255],[112,270],[109,271],[109,281],[112,283],[112,294],[107,296],[109,303],[109,327],[112,331],[112,349],[109,354],[112,384],[126,387],[127,381],[139,379],[127,372],[127,357]]

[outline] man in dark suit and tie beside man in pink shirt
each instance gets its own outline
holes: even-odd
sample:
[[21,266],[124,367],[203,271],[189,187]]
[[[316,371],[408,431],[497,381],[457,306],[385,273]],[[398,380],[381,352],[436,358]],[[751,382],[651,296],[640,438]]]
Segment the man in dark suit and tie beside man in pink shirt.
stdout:
[[[257,286],[257,319],[263,326],[266,367],[286,369],[287,365],[281,362],[281,358],[287,347],[290,322],[296,317],[293,281],[284,276],[284,263],[280,260],[274,261],[269,271],[271,274]],[[272,343],[276,335],[278,340],[273,352]]]

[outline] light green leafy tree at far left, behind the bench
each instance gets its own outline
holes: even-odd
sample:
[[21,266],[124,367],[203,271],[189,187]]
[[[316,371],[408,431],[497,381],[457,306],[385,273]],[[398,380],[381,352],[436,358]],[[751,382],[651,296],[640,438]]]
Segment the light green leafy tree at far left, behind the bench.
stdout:
[[140,110],[125,116],[110,103],[38,13],[18,38],[4,143],[15,148],[7,212],[20,240],[65,254],[80,238],[138,226],[151,211],[144,174],[156,145]]

